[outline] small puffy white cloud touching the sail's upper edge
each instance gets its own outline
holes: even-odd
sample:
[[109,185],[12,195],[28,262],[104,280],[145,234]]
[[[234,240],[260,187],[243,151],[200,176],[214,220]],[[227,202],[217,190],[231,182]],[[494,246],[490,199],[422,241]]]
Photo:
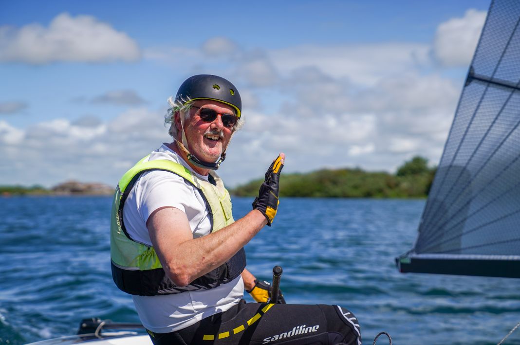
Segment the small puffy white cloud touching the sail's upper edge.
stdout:
[[434,41],[438,61],[447,67],[469,65],[485,19],[486,11],[469,9],[464,17],[441,23]]

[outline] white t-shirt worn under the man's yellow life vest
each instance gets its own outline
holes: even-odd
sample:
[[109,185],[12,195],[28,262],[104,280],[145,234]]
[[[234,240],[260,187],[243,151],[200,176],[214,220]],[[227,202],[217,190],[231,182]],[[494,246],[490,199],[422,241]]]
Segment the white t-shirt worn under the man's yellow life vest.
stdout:
[[[165,144],[153,151],[149,160],[174,161],[194,172]],[[195,174],[207,181],[207,176]],[[175,207],[186,213],[193,238],[210,233],[209,211],[199,190],[171,172],[152,170],[139,177],[126,199],[123,221],[128,235],[136,242],[151,246],[146,221],[154,210],[164,206]],[[153,332],[169,333],[228,310],[240,301],[243,293],[244,283],[239,276],[210,290],[132,298],[143,326]]]

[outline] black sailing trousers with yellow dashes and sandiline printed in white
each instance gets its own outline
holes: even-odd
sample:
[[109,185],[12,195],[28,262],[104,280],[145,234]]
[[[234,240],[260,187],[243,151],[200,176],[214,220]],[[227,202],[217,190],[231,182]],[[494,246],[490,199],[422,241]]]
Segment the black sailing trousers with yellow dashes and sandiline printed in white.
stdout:
[[246,303],[243,299],[228,311],[179,331],[148,333],[154,345],[361,345],[356,317],[339,306]]

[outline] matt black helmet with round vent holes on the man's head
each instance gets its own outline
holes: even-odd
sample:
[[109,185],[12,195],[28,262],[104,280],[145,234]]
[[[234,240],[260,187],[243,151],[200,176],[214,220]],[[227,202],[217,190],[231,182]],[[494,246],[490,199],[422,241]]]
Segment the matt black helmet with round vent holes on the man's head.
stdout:
[[212,99],[226,103],[237,110],[238,117],[242,110],[242,100],[235,85],[211,74],[198,74],[186,79],[177,91],[175,102],[185,102],[186,99]]

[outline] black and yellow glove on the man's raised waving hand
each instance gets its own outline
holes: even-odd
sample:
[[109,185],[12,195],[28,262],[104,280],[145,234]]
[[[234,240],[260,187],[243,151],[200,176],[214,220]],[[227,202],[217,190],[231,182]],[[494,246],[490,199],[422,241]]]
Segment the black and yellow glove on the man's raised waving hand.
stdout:
[[280,172],[282,172],[282,158],[278,156],[267,169],[265,173],[265,181],[260,186],[258,196],[253,201],[253,209],[261,211],[267,218],[267,225],[271,226],[272,220],[276,216],[278,210],[278,190],[280,181]]

